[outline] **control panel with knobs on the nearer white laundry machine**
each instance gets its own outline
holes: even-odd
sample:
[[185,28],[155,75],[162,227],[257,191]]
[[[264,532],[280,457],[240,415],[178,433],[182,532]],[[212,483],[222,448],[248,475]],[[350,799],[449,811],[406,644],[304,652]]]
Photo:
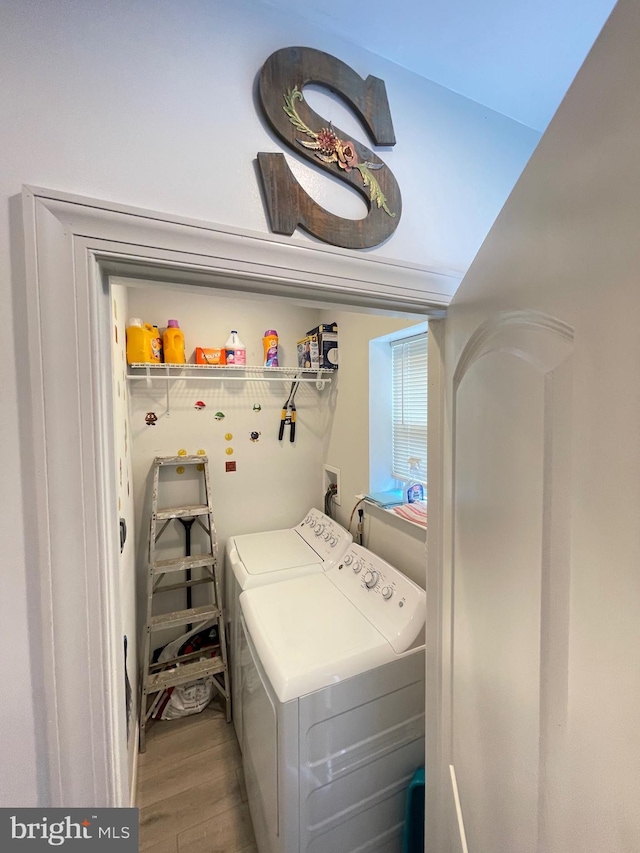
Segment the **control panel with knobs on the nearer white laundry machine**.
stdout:
[[425,623],[423,589],[377,554],[351,542],[327,577],[400,654]]

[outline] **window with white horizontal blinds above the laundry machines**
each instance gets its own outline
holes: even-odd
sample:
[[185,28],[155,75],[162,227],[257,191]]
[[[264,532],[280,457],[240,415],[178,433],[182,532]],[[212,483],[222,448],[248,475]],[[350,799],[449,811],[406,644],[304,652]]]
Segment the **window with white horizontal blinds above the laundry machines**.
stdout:
[[409,459],[420,459],[427,482],[427,336],[391,342],[393,476],[409,479]]

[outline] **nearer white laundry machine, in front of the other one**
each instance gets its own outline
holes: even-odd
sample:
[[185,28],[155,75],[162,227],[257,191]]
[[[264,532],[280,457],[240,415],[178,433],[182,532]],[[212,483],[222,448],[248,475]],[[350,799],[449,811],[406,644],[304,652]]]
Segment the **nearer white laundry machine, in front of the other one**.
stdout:
[[260,853],[400,853],[424,765],[424,590],[351,544],[240,595],[243,768]]

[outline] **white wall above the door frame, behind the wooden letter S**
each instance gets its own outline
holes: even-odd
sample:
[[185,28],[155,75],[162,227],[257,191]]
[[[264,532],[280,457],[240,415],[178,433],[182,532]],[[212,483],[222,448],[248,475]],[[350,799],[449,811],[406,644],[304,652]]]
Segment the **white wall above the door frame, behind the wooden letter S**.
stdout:
[[[410,26],[410,22],[407,22]],[[254,172],[279,151],[253,103],[255,75],[289,44],[339,56],[383,78],[398,145],[385,154],[403,193],[396,234],[373,254],[464,270],[537,142],[537,134],[385,60],[248,2],[4,0],[0,9],[0,287],[19,319],[23,246],[16,196],[25,183],[265,232]],[[336,107],[337,110],[337,107]],[[327,116],[332,118],[331,115]],[[345,126],[345,130],[349,128]],[[302,167],[296,165],[296,171]],[[310,174],[310,173],[307,173]],[[313,173],[315,196],[337,212],[352,196]],[[328,184],[326,186],[325,184]],[[306,241],[304,235],[296,239]],[[17,400],[24,346],[5,334],[0,362],[6,565],[0,626],[14,648],[12,690],[0,711],[6,784],[0,804],[46,801],[37,761],[38,595],[22,508]],[[63,366],[61,366],[63,369]],[[51,405],[42,401],[43,409]],[[34,657],[13,637],[33,637]],[[19,748],[16,748],[19,744]]]

